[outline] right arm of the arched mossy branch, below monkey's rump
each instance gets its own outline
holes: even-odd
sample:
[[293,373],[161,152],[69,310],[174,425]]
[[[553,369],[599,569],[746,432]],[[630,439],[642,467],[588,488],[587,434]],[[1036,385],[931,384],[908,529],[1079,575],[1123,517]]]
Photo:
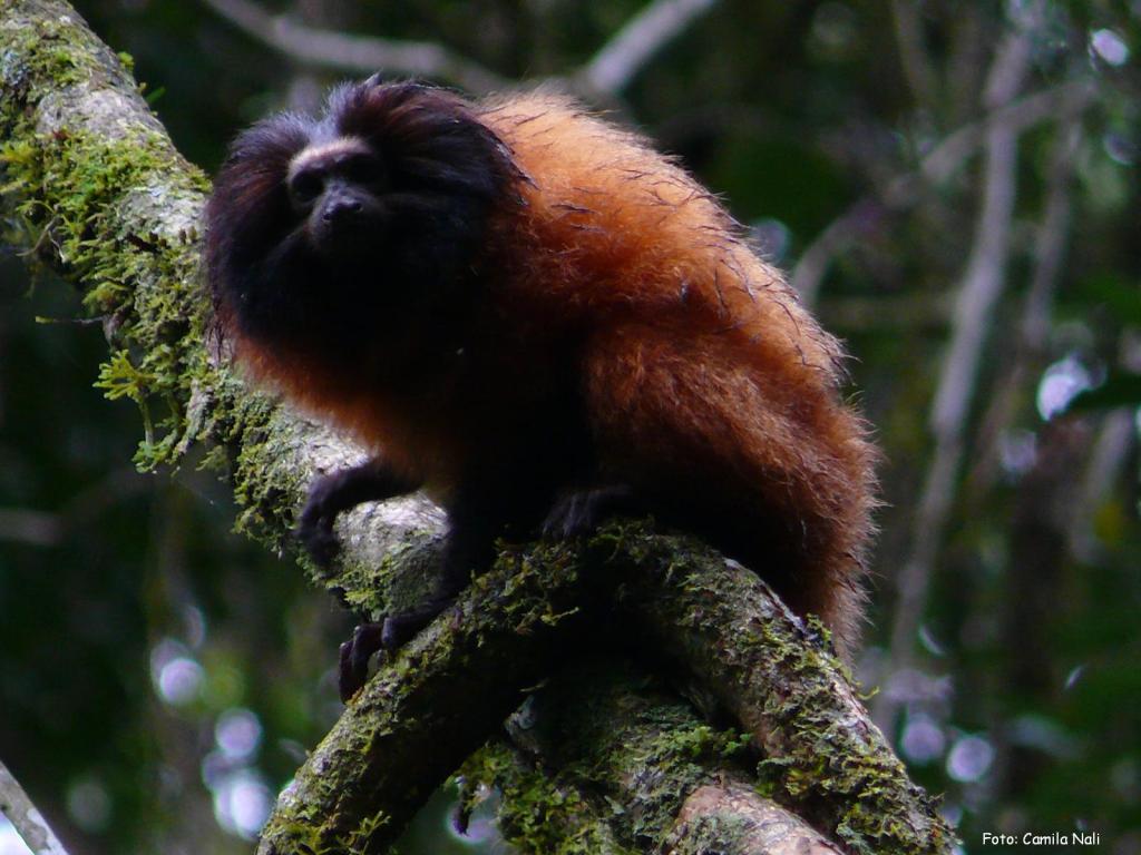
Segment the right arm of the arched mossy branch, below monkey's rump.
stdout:
[[[694,675],[764,752],[762,788],[852,852],[944,852],[954,833],[911,783],[843,668],[755,573],[655,538],[624,565],[623,604],[649,649]],[[825,749],[824,747],[827,746]]]

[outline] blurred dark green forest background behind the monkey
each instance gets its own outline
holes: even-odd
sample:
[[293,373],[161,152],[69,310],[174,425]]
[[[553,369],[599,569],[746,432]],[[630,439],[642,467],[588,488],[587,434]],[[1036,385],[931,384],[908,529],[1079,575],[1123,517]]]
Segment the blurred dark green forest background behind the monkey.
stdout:
[[[688,6],[628,78],[596,62],[628,0],[75,2],[210,170],[354,73],[302,56],[317,31],[445,46],[421,75],[447,84],[565,79],[679,155],[856,357],[881,725],[968,850],[1082,826],[1141,853],[1141,5]],[[212,477],[133,472],[64,293],[0,259],[0,758],[75,852],[249,852],[338,715],[349,619],[229,534]],[[502,847],[446,813],[403,850]]]

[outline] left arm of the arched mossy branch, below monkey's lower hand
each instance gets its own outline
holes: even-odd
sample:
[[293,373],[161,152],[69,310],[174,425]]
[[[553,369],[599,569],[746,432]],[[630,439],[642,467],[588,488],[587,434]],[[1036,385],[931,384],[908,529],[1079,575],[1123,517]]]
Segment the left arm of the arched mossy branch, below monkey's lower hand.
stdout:
[[566,545],[502,554],[349,702],[258,852],[383,852],[541,681],[557,645],[573,646],[588,602],[574,557]]

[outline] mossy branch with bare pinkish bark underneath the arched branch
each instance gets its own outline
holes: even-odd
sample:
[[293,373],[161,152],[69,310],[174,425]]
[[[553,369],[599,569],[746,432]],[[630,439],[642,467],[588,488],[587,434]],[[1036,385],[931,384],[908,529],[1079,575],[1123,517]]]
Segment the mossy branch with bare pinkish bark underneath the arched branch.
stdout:
[[[711,727],[661,681],[602,646],[509,719],[513,749],[489,746],[464,767],[469,789],[482,783],[502,792],[500,824],[517,848],[561,850],[553,824],[566,828],[561,839],[589,840],[580,846],[586,852],[841,852],[758,795],[748,772],[755,752],[737,732]],[[582,685],[592,687],[589,698]],[[599,821],[583,822],[585,815],[608,817],[613,830],[599,834]]]

